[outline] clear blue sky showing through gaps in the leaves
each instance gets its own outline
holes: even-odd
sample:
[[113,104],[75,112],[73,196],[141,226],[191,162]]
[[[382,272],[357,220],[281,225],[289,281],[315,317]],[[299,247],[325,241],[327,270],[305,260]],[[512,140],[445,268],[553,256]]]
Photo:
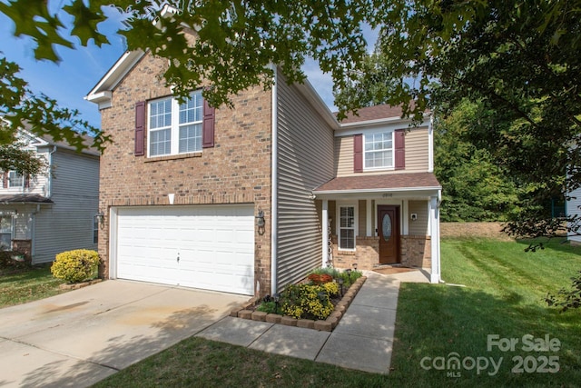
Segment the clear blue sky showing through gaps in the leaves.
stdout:
[[[110,45],[78,45],[74,50],[57,47],[62,61],[54,64],[49,61],[36,61],[34,41],[26,37],[15,38],[12,35],[14,24],[4,14],[0,14],[0,52],[9,61],[20,65],[20,76],[28,82],[34,93],[44,93],[62,106],[77,109],[81,112],[81,118],[100,128],[101,119],[97,105],[85,101],[84,96],[125,51],[123,38],[113,34],[117,26],[118,21],[114,17],[99,25],[101,31],[108,35]],[[373,43],[377,34],[368,30],[366,35],[370,38],[368,42]],[[318,65],[312,61],[303,66],[303,71],[323,101],[334,110],[330,75],[322,74]]]

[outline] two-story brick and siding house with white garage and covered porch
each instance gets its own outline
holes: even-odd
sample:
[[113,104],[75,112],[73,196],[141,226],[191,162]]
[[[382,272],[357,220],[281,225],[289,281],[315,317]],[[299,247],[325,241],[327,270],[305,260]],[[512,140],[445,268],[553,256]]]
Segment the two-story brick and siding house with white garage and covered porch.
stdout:
[[248,89],[233,109],[200,90],[178,104],[158,76],[166,65],[127,52],[85,97],[113,137],[101,158],[105,277],[263,295],[331,260],[420,266],[439,282],[428,116],[409,129],[384,105],[339,124],[278,69],[270,91]]

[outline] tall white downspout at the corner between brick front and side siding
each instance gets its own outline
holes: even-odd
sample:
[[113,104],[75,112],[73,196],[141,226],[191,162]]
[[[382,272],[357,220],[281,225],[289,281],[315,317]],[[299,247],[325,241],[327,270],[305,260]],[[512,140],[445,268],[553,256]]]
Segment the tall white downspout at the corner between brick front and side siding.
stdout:
[[277,293],[277,254],[278,254],[278,243],[279,243],[279,231],[278,231],[278,185],[279,185],[279,169],[278,169],[278,159],[279,159],[279,111],[278,111],[278,95],[277,95],[277,66],[271,65],[272,71],[274,72],[274,83],[272,84],[272,123],[271,123],[271,295]]

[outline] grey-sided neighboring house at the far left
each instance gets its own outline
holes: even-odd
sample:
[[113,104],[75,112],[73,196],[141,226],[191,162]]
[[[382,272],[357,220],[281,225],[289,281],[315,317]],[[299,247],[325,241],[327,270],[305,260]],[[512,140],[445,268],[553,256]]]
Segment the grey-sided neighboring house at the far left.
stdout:
[[30,177],[2,172],[1,249],[22,252],[32,264],[52,262],[71,249],[97,249],[99,152],[77,153],[64,142],[25,130],[18,136],[48,166],[45,174]]

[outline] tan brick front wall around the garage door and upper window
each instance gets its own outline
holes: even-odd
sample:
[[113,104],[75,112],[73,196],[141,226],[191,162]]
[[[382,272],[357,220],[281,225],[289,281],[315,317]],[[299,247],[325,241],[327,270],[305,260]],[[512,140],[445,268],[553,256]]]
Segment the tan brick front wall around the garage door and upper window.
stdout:
[[[251,88],[232,98],[234,108],[216,109],[215,145],[201,153],[147,158],[134,156],[135,104],[171,95],[160,78],[166,61],[144,55],[113,91],[103,109],[102,128],[113,137],[101,157],[99,235],[101,274],[107,277],[111,206],[174,204],[254,204],[267,220],[255,238],[255,281],[271,288],[271,93]],[[146,140],[147,142],[147,140]],[[146,143],[147,144],[147,143]]]

